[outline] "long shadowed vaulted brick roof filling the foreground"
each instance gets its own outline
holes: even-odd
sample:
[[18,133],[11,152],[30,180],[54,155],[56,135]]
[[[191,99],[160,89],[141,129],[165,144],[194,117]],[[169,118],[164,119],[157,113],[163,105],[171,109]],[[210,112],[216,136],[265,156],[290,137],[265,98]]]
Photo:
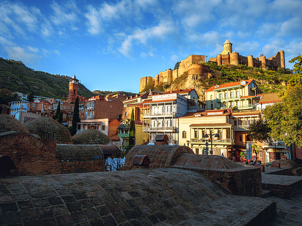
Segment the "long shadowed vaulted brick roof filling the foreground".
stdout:
[[274,205],[172,168],[0,179],[0,225],[259,225]]

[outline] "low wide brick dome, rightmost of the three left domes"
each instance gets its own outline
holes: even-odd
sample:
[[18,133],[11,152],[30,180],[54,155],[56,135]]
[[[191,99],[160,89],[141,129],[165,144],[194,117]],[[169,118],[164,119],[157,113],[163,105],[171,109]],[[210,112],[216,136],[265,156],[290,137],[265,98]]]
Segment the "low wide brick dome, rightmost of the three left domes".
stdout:
[[72,136],[74,144],[108,144],[111,139],[101,131],[95,129],[83,130]]

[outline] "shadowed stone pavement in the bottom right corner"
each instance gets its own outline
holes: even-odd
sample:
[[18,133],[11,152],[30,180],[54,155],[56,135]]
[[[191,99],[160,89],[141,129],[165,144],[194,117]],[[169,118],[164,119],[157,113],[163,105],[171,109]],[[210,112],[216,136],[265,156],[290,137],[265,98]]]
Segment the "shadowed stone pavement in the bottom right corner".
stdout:
[[270,226],[301,226],[302,225],[302,194],[291,199],[282,199],[276,196],[267,200],[277,202],[277,216],[271,221]]

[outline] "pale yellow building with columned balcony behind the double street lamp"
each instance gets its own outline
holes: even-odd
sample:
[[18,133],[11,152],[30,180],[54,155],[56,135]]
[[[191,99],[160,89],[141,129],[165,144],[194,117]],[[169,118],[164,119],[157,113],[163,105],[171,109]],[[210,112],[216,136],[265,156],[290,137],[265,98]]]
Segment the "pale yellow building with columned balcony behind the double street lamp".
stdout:
[[[187,112],[183,117],[178,118],[178,128],[179,145],[187,145],[189,142],[195,154],[204,153],[206,140],[210,151],[212,137],[213,155],[232,157],[229,151],[235,143],[230,110]],[[204,138],[205,134],[208,138]]]

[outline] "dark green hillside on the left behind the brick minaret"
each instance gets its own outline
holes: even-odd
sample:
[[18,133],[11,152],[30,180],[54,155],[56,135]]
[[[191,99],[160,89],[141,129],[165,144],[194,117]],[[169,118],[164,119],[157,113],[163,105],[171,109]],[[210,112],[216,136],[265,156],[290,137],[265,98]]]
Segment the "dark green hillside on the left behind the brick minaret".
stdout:
[[[0,58],[0,89],[34,96],[65,98],[68,96],[70,77],[35,71],[26,67],[22,61]],[[89,98],[93,93],[79,83],[78,94]]]

